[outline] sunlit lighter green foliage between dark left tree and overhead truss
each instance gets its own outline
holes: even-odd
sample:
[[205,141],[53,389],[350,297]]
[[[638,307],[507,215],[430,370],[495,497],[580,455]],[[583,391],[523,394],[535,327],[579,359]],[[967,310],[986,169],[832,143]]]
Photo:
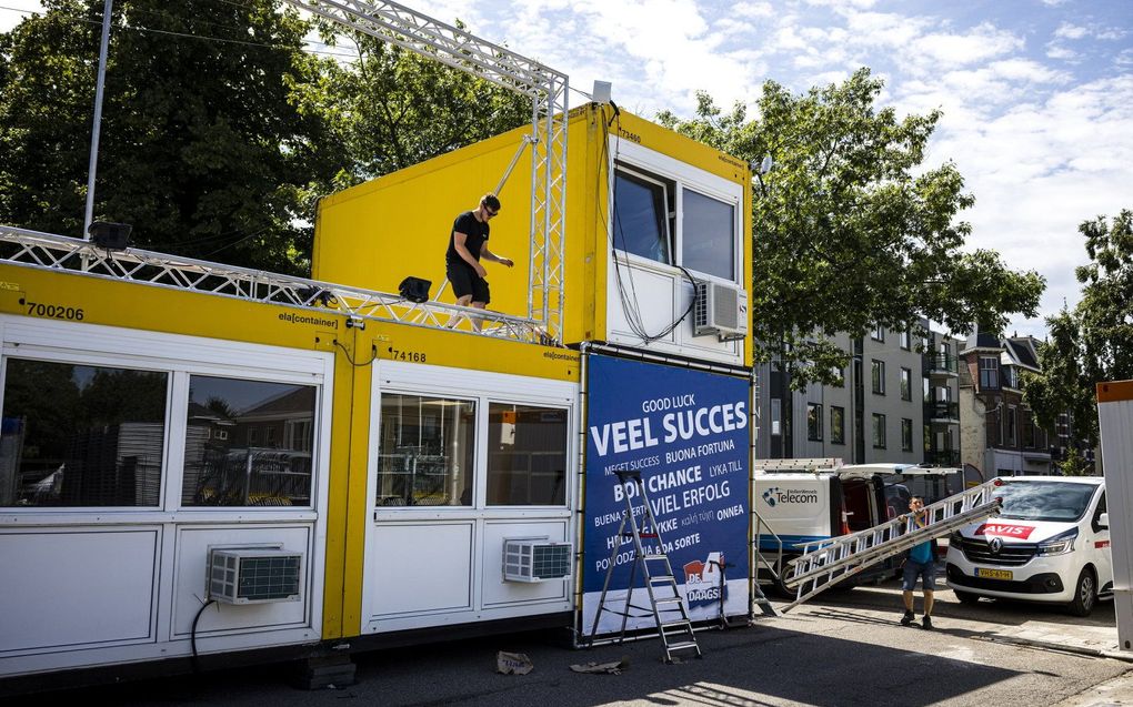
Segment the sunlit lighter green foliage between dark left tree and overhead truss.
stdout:
[[[334,34],[338,28],[327,26],[322,31],[327,42],[358,54],[351,66],[329,67],[325,78],[344,149],[339,188],[531,120],[529,98],[466,70],[369,35]],[[470,63],[465,69],[475,71]]]

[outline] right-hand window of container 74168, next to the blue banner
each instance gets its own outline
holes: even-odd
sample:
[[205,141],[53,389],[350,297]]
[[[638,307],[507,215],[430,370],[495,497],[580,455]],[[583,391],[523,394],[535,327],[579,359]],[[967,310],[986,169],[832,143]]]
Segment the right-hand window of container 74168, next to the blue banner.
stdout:
[[488,405],[488,506],[566,502],[566,411]]

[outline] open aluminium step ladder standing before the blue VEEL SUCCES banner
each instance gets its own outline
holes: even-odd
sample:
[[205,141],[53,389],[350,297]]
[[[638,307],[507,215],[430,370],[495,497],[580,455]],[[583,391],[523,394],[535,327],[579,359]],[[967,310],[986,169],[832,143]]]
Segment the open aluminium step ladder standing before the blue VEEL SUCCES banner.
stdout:
[[[651,615],[657,626],[657,635],[661,636],[661,641],[665,646],[666,663],[674,661],[674,654],[685,650],[695,653],[698,658],[702,657],[700,645],[692,630],[692,621],[689,619],[689,612],[684,605],[684,597],[681,596],[676,586],[676,577],[673,576],[673,566],[668,562],[668,555],[665,554],[665,545],[662,542],[649,498],[646,495],[641,472],[614,473],[617,474],[617,483],[624,489],[622,495],[625,499],[625,511],[622,523],[617,527],[617,534],[614,536],[614,546],[610,553],[610,568],[606,570],[606,580],[602,585],[602,596],[598,598],[598,610],[594,614],[594,626],[590,629],[587,644],[594,646],[597,643],[622,643],[625,640],[625,626],[630,617]],[[606,606],[606,595],[610,592],[610,579],[614,574],[614,561],[623,545],[629,542],[633,544],[633,563],[630,566],[630,579],[625,589],[625,605],[622,611],[616,611]],[[645,580],[649,606],[633,604],[638,572]],[[640,613],[631,613],[634,611]],[[616,638],[597,641],[598,622],[602,620],[603,612],[620,615],[622,626]]]

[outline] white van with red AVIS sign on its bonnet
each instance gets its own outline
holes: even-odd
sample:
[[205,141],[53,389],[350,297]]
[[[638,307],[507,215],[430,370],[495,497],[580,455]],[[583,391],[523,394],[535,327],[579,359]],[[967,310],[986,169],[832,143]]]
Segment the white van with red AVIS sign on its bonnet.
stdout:
[[1062,604],[1088,615],[1111,598],[1106,482],[1100,476],[1008,476],[1003,510],[949,537],[946,571],[956,598]]

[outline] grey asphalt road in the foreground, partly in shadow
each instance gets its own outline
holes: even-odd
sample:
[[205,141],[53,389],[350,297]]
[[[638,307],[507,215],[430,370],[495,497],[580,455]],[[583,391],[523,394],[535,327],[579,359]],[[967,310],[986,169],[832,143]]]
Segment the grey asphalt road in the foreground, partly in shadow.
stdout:
[[[1021,604],[965,606],[951,592],[937,595],[934,631],[897,623],[895,586],[859,588],[827,593],[749,628],[700,632],[705,657],[676,665],[659,659],[657,640],[573,650],[562,636],[526,633],[356,655],[357,683],[341,689],[298,690],[288,683],[289,671],[274,665],[51,697],[247,707],[1133,704],[1115,692],[1102,701],[1087,697],[1126,673],[1133,686],[1133,656],[1106,650],[1109,643],[1116,648],[1111,604],[1081,620]],[[535,670],[496,673],[499,650],[526,654]],[[622,659],[628,666],[616,675],[570,670]],[[1126,697],[1133,699],[1133,692]],[[42,697],[35,701],[42,704]]]

